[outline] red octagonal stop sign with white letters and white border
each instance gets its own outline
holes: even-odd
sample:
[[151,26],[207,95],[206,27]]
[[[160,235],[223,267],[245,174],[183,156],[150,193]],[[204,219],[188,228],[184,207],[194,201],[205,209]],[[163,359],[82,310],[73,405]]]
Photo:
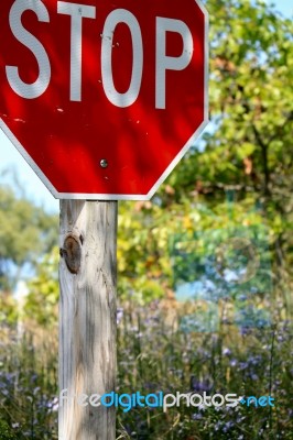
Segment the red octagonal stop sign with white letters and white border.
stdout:
[[149,199],[207,124],[199,0],[1,0],[0,125],[57,198]]

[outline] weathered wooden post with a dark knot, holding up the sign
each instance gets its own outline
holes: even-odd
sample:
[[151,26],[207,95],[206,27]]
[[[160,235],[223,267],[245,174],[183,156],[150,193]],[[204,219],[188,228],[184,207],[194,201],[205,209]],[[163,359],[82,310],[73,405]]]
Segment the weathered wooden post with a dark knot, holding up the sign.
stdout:
[[58,439],[115,440],[115,407],[80,396],[115,391],[117,201],[61,200],[59,240]]

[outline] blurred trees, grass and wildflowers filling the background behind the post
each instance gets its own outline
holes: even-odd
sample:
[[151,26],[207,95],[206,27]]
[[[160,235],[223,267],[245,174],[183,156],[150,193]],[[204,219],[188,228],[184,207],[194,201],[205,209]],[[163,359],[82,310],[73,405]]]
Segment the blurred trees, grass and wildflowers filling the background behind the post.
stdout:
[[[118,391],[276,405],[119,411],[119,439],[293,439],[293,24],[207,9],[211,123],[152,200],[119,204]],[[57,233],[0,187],[1,440],[57,438]]]

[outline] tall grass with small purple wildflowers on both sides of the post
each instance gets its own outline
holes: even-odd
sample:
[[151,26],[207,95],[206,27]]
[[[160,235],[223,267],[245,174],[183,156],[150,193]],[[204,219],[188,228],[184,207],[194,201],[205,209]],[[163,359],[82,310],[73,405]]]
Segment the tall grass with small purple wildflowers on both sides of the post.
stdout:
[[[203,306],[121,305],[117,392],[271,395],[275,406],[119,408],[117,438],[293,438],[292,323],[283,305],[271,308],[270,322],[246,326],[229,318],[230,306],[219,304],[217,328],[199,331],[193,321]],[[0,439],[57,439],[56,329],[2,329],[0,353]]]

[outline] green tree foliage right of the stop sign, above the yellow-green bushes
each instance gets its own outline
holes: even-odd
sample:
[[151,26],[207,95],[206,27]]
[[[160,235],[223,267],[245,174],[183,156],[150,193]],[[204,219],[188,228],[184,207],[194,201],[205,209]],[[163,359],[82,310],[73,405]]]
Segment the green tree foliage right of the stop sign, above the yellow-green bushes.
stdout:
[[[172,186],[223,186],[267,194],[292,180],[293,24],[264,2],[208,1],[210,118],[204,152],[194,150]],[[198,186],[197,186],[198,187]]]

